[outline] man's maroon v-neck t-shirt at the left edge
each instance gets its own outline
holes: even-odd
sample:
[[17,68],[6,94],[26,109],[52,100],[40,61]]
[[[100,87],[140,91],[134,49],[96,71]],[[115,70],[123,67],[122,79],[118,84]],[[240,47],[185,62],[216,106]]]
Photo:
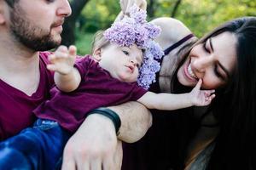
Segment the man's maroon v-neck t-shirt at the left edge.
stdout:
[[40,55],[40,82],[37,91],[28,96],[0,79],[0,140],[7,139],[29,127],[35,120],[32,114],[49,97],[53,75],[46,69],[48,52]]

